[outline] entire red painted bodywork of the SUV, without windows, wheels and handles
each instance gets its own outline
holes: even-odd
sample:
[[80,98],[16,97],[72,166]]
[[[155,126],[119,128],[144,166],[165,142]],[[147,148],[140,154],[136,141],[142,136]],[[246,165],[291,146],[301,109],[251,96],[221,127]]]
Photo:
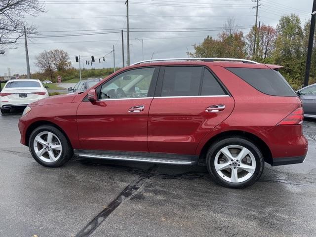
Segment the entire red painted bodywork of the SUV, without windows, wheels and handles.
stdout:
[[[264,94],[225,67],[276,69],[279,66],[232,62],[168,62],[134,65],[110,75],[145,66],[197,65],[209,67],[227,87],[231,96],[112,99],[83,102],[87,91],[54,96],[31,104],[32,111],[20,118],[21,143],[27,129],[37,121],[58,125],[74,149],[117,150],[200,155],[214,136],[227,131],[244,131],[259,137],[273,158],[304,156],[307,140],[302,125],[277,125],[298,107],[298,97]],[[92,88],[97,88],[104,81]],[[207,113],[211,105],[225,104],[220,113]],[[128,109],[144,105],[140,114]]]

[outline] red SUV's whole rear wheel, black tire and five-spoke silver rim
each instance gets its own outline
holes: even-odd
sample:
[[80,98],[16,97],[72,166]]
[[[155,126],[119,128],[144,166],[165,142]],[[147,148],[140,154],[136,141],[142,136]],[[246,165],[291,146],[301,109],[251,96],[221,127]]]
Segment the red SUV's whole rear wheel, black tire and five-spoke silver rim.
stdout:
[[241,137],[215,142],[207,153],[207,169],[213,179],[229,188],[244,188],[261,176],[264,158],[259,148]]

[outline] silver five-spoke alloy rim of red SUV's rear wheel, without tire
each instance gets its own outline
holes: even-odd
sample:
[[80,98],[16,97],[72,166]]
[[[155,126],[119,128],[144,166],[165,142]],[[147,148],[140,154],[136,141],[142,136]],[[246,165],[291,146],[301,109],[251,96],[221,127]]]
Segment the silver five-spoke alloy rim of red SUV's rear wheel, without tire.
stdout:
[[254,174],[256,159],[247,148],[230,145],[218,151],[214,167],[222,179],[231,183],[241,183],[249,180]]

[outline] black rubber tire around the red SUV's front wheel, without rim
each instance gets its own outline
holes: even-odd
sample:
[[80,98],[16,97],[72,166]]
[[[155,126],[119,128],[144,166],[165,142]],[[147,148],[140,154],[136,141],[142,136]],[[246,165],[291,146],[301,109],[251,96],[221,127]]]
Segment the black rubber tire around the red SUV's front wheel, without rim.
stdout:
[[[62,151],[61,151],[61,156],[58,158],[56,161],[53,162],[45,162],[44,160],[40,159],[34,150],[34,139],[35,137],[40,133],[40,132],[51,132],[53,133],[61,143]],[[59,167],[65,164],[70,158],[73,157],[74,155],[74,150],[66,138],[66,136],[56,127],[52,125],[42,125],[34,129],[34,131],[30,135],[29,139],[29,148],[30,152],[33,156],[33,158],[41,165],[46,166],[46,167]]]

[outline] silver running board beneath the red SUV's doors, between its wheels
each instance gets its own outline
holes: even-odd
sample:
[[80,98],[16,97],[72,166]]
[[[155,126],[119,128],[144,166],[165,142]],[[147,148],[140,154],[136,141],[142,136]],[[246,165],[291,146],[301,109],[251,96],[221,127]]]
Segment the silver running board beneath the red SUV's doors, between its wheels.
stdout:
[[116,156],[108,154],[76,154],[81,158],[97,158],[97,159],[110,159],[110,160],[126,160],[126,161],[140,161],[148,163],[159,164],[195,164],[195,160],[185,160],[178,158],[154,158],[154,157],[138,157],[138,156]]

